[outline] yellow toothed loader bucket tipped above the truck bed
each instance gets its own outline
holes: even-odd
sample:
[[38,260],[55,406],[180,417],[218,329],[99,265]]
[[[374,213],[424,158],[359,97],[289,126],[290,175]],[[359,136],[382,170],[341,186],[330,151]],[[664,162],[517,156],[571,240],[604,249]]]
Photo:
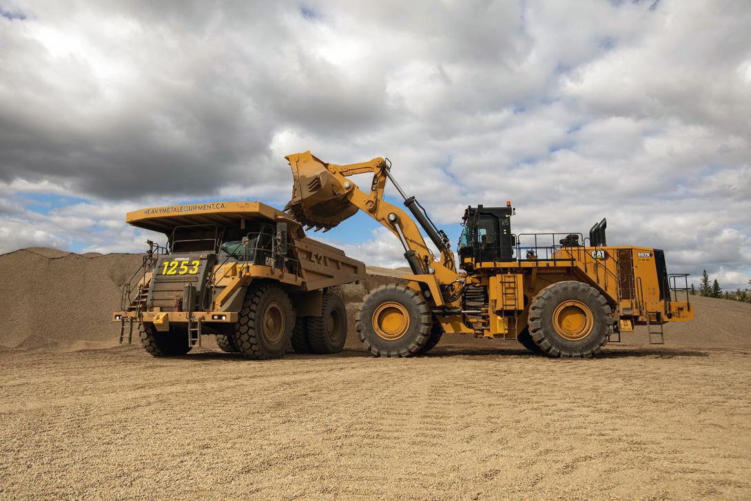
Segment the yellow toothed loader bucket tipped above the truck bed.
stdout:
[[316,231],[329,230],[357,213],[347,192],[328,171],[327,164],[311,152],[295,153],[285,158],[292,168],[292,199],[285,211],[302,225]]

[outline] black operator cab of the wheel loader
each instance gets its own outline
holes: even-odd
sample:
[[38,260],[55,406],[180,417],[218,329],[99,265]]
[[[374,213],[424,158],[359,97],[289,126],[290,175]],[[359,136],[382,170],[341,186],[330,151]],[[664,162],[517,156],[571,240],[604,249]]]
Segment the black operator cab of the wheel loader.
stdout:
[[463,231],[459,242],[459,257],[475,262],[513,261],[516,237],[511,233],[514,208],[467,207],[462,217]]

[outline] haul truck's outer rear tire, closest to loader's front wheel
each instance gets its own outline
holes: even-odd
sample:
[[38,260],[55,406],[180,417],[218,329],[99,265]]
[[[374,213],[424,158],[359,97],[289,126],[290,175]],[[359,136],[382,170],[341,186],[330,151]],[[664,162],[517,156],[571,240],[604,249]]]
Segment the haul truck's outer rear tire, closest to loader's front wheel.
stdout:
[[347,341],[347,309],[342,297],[324,292],[320,316],[307,318],[308,344],[312,353],[340,353]]

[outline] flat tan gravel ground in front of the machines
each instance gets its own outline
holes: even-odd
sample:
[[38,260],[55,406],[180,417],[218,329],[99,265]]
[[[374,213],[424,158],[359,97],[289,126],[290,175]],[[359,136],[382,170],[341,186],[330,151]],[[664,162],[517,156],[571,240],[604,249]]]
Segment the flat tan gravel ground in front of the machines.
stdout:
[[517,346],[0,353],[0,497],[751,497],[751,351]]

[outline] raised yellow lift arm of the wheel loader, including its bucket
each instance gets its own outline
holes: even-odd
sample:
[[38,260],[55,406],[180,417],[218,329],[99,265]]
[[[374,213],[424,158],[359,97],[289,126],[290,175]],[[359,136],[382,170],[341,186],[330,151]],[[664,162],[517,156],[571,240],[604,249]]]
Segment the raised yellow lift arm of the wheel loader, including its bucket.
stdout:
[[[294,219],[308,228],[315,227],[316,231],[327,231],[362,210],[400,240],[412,270],[412,276],[406,279],[420,284],[427,300],[439,307],[460,305],[463,282],[448,237],[433,225],[415,197],[406,197],[391,176],[387,160],[379,157],[357,164],[327,164],[309,151],[285,158],[294,177],[292,199],[285,210]],[[366,173],[373,174],[369,193],[348,179]],[[414,219],[383,199],[387,180],[394,184]],[[428,248],[415,220],[440,250],[440,260]]]

